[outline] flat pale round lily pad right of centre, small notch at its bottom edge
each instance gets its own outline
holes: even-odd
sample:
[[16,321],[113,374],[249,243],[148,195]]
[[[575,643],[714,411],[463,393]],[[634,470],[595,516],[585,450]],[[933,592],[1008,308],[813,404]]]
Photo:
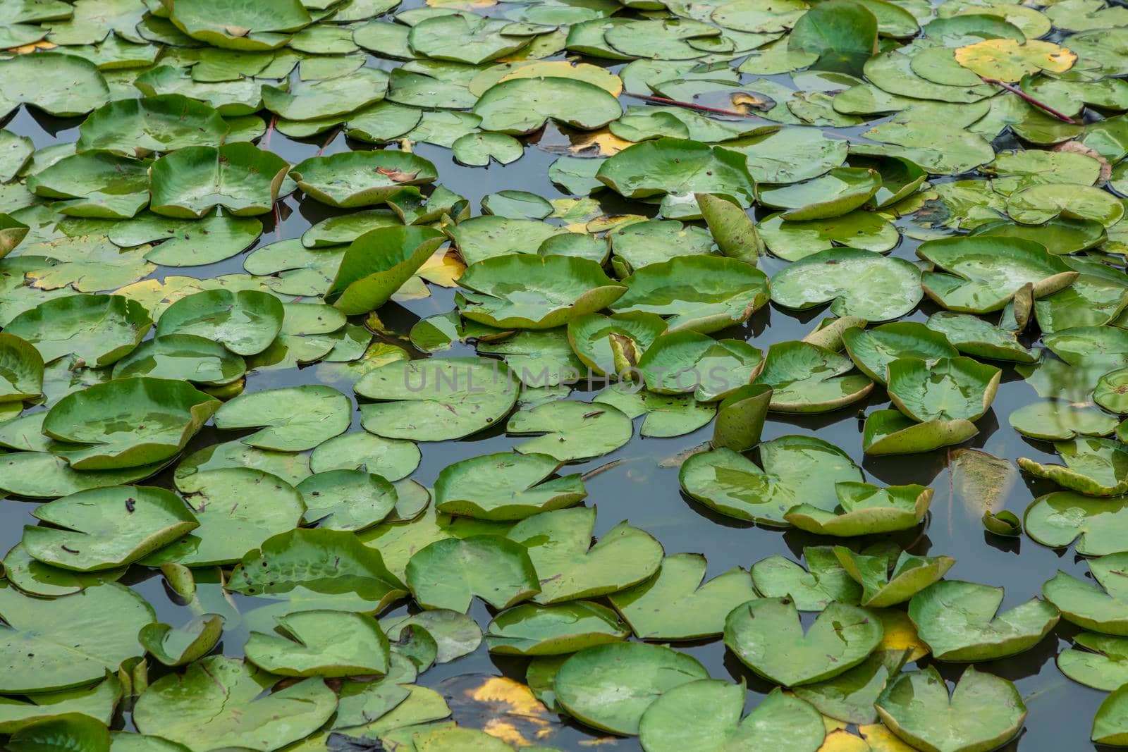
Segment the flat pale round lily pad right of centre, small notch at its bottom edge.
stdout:
[[884,321],[916,308],[923,297],[919,274],[916,266],[900,258],[834,248],[777,272],[772,277],[772,300],[797,309],[832,300],[830,311],[837,316]]

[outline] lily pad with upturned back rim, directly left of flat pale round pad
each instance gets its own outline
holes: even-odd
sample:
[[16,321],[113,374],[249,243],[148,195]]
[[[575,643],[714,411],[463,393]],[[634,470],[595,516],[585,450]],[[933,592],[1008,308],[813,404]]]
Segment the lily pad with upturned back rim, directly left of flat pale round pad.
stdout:
[[[686,280],[694,282],[687,285]],[[767,275],[719,256],[675,257],[638,269],[624,283],[627,291],[611,303],[611,310],[669,317],[669,331],[708,334],[740,324],[768,298]]]

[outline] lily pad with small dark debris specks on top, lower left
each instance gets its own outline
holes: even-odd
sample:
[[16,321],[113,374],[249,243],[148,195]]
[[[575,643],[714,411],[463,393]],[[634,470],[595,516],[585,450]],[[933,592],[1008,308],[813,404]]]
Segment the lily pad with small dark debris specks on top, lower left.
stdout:
[[180,499],[162,488],[116,486],[43,504],[25,525],[23,546],[51,566],[77,572],[131,564],[199,527]]

